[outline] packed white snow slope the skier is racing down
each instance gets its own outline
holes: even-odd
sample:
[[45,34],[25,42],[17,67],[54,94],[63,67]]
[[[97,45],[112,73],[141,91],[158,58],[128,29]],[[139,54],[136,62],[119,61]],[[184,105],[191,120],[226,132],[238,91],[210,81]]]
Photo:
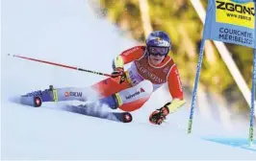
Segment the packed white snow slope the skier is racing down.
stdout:
[[1,158],[256,158],[255,147],[246,146],[246,126],[225,131],[195,112],[192,134],[188,135],[190,99],[162,126],[150,125],[150,112],[169,99],[164,89],[133,112],[131,124],[54,109],[63,103],[33,108],[9,101],[49,84],[84,87],[104,77],[12,58],[8,53],[110,73],[112,59],[135,44],[121,37],[107,20],[99,19],[87,0],[3,0]]

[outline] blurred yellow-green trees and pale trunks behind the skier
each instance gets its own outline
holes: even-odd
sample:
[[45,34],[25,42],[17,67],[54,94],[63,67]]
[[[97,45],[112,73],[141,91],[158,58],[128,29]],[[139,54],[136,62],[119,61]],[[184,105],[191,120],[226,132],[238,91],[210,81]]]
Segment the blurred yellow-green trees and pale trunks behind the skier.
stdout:
[[[207,1],[91,0],[90,7],[98,18],[115,24],[115,32],[138,44],[144,44],[151,31],[169,34],[169,55],[177,63],[187,106],[191,106]],[[253,49],[206,41],[196,98],[200,113],[205,117],[218,116],[223,125],[234,125],[241,119],[249,123],[252,59]]]

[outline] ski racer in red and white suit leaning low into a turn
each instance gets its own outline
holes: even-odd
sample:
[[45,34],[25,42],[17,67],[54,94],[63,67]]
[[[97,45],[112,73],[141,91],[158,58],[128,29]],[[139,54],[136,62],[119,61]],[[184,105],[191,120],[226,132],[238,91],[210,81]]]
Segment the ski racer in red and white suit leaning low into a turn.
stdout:
[[[112,77],[99,81],[90,87],[53,88],[23,95],[21,102],[40,106],[43,102],[72,101],[87,102],[95,99],[97,104],[107,104],[112,109],[134,111],[149,99],[150,95],[167,83],[171,102],[163,104],[149,116],[149,121],[161,125],[169,113],[186,103],[179,72],[173,59],[167,56],[171,41],[162,31],[148,35],[145,46],[135,46],[122,52],[114,59]],[[129,69],[124,65],[131,62]],[[92,93],[99,98],[92,98]],[[35,99],[36,98],[36,99]],[[90,104],[91,106],[95,104]],[[90,107],[87,104],[87,107]],[[83,105],[82,105],[83,106]]]

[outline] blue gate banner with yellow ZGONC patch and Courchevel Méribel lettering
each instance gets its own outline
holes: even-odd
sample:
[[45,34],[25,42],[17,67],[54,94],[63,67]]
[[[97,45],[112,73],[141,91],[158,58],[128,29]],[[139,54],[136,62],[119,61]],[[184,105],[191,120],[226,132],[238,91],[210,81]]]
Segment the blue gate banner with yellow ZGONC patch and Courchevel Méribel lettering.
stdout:
[[256,49],[253,0],[208,0],[204,39]]

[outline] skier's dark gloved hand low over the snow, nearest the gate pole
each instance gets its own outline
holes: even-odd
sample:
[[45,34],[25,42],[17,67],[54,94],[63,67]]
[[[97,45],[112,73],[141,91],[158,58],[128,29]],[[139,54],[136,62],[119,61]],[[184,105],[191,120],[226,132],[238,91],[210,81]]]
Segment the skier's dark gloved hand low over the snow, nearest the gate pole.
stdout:
[[149,122],[154,125],[161,125],[166,120],[168,113],[169,111],[166,106],[157,109],[149,116]]

